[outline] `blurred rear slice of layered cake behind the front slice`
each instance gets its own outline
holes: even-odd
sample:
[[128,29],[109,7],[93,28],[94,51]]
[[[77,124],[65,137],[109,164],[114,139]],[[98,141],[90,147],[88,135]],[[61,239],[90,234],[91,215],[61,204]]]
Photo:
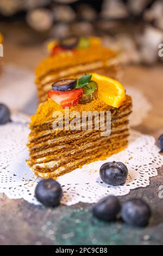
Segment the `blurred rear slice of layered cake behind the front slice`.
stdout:
[[96,37],[71,36],[48,44],[50,56],[36,69],[36,84],[39,103],[47,100],[52,83],[65,77],[80,77],[84,73],[117,78],[119,65],[116,53],[102,46]]

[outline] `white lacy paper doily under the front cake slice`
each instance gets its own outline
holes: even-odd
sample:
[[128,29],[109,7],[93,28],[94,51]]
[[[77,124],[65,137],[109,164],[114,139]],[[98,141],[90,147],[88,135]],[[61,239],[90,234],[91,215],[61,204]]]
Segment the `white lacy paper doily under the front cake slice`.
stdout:
[[[39,204],[34,197],[34,190],[40,178],[36,178],[26,164],[26,143],[29,133],[27,120],[19,114],[14,115],[12,120],[14,122],[0,126],[0,192],[9,198],[24,198],[30,203]],[[113,160],[121,161],[128,167],[128,179],[123,186],[108,186],[99,178],[101,165]],[[109,194],[128,194],[134,188],[148,186],[149,178],[158,174],[156,168],[162,164],[163,159],[158,147],[155,146],[154,138],[131,130],[126,150],[112,155],[105,161],[90,163],[58,179],[64,191],[61,203],[95,203]]]

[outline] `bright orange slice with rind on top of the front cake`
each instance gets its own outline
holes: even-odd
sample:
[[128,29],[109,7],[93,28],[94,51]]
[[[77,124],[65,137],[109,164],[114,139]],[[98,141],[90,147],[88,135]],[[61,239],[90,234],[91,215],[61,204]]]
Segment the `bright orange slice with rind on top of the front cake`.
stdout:
[[126,99],[126,91],[121,83],[107,77],[92,74],[92,80],[98,84],[98,98],[104,101],[107,105],[112,107],[120,107]]

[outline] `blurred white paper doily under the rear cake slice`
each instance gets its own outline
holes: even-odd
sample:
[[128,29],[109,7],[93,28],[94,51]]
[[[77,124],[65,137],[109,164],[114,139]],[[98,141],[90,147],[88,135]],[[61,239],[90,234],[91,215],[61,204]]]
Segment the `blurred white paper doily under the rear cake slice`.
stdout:
[[[34,80],[32,71],[12,64],[4,66],[3,74],[0,76],[0,102],[16,111],[35,113],[37,99]],[[140,90],[130,86],[125,87],[133,99],[130,126],[136,126],[141,124],[151,110],[151,104]]]

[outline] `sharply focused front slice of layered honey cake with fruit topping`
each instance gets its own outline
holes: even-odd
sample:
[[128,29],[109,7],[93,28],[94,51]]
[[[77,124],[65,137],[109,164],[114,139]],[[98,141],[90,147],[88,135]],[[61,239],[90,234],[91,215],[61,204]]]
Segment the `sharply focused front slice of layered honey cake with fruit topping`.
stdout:
[[55,179],[127,147],[132,102],[120,83],[92,74],[52,88],[29,125],[27,163],[37,176]]

